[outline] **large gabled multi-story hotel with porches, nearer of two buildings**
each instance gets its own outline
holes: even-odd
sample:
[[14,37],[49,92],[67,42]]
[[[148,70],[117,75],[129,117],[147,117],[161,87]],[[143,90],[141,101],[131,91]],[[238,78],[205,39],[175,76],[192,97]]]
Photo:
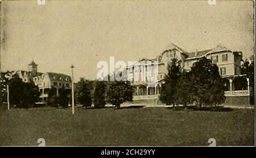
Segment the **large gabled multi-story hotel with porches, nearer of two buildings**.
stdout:
[[[240,70],[242,61],[241,51],[217,45],[213,49],[185,52],[179,46],[172,43],[160,52],[155,59],[143,58],[139,60],[138,69],[135,68],[135,65],[126,67],[127,80],[130,80],[132,86],[134,86],[133,100],[136,103],[160,104],[159,91],[164,83],[164,74],[167,72],[167,65],[171,62],[171,59],[178,59],[182,70],[189,71],[193,63],[203,57],[211,59],[219,67],[220,75],[225,80],[225,104],[249,104],[249,79],[245,75],[241,75]],[[157,74],[153,74],[152,67],[154,67],[154,64],[158,67]],[[151,66],[151,68],[147,69],[148,66]],[[156,79],[147,80],[147,76],[150,75],[156,76]]]

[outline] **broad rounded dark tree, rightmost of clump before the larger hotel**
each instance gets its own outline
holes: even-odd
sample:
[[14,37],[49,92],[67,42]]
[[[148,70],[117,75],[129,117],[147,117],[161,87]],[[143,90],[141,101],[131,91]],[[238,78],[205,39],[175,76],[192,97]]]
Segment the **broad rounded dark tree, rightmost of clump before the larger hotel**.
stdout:
[[201,105],[218,105],[225,101],[225,86],[218,66],[210,59],[202,58],[191,67],[193,100]]

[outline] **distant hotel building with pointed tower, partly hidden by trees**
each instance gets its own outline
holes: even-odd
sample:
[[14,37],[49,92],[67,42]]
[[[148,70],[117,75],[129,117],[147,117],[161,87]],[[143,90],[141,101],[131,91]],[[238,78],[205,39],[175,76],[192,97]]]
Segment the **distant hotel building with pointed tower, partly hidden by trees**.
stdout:
[[17,71],[23,82],[34,82],[40,91],[40,103],[46,103],[48,92],[51,87],[55,88],[56,96],[59,96],[61,89],[71,90],[71,76],[55,72],[38,72],[38,65],[32,61],[28,65],[28,71]]

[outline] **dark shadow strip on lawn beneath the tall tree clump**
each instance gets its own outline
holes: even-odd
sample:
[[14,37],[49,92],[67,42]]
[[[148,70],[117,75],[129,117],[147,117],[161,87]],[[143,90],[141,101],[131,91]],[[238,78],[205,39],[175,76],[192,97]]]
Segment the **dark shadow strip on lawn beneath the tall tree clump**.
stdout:
[[175,106],[175,107],[168,107],[166,109],[171,109],[174,111],[208,111],[208,112],[232,112],[234,109],[232,108],[225,108],[224,106],[214,106],[214,107],[201,107],[195,105],[187,106],[187,109],[184,108],[184,106]]

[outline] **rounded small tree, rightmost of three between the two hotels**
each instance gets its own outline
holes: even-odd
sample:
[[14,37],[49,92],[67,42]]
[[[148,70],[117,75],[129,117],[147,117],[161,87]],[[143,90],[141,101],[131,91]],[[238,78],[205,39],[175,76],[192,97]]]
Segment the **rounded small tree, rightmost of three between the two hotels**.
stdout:
[[108,102],[120,108],[125,101],[133,101],[133,87],[128,81],[109,82],[107,88]]

